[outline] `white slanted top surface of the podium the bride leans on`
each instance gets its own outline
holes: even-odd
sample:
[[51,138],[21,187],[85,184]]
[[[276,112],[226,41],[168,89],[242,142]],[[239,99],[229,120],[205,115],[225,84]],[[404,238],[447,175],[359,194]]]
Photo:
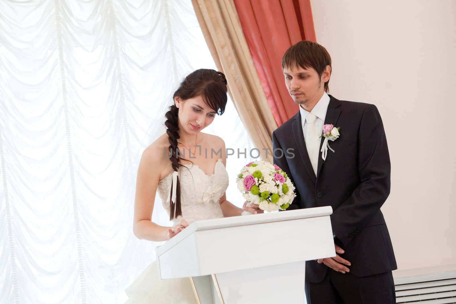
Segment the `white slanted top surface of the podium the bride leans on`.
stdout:
[[186,237],[188,237],[196,231],[262,224],[268,222],[290,221],[308,217],[329,216],[331,214],[332,207],[324,206],[289,211],[260,213],[248,216],[231,216],[196,221],[188,225],[187,228],[179,232],[175,237],[171,238],[171,240],[167,241],[165,244],[158,247],[157,254],[161,255],[162,253],[166,252],[168,249],[176,245],[178,242],[181,242],[183,239],[185,239]]

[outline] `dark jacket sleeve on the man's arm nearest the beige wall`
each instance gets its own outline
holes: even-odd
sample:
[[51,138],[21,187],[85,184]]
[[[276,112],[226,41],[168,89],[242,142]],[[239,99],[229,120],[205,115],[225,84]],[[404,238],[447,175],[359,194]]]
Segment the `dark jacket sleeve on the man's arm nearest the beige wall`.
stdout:
[[358,133],[358,170],[361,183],[332,213],[332,230],[344,244],[359,225],[375,215],[390,191],[391,164],[382,119],[377,107],[364,109]]

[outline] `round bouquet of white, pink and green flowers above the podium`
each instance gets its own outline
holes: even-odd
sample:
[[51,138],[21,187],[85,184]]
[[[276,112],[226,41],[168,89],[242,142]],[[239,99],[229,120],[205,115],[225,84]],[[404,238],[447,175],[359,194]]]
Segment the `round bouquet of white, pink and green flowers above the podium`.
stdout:
[[[268,161],[253,161],[245,165],[236,178],[239,191],[247,206],[258,204],[259,208],[272,212],[285,210],[295,198],[295,186],[277,165]],[[251,214],[243,211],[242,215]]]

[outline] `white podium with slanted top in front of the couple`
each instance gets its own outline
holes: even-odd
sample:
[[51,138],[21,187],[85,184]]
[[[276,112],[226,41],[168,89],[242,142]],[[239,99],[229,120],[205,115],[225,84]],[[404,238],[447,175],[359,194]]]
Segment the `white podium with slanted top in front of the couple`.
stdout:
[[306,261],[336,256],[330,206],[193,222],[157,247],[201,304],[304,303]]

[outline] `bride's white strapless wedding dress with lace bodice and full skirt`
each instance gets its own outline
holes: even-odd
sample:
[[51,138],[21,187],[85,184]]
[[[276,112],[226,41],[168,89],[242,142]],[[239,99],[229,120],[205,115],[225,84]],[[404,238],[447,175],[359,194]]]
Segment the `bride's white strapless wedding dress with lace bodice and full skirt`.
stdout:
[[[228,173],[222,159],[218,159],[214,173],[206,175],[198,165],[185,165],[179,170],[182,216],[173,220],[177,225],[184,218],[190,225],[198,220],[223,217],[219,200],[228,188]],[[172,172],[158,183],[163,206],[170,214],[169,201]],[[196,304],[189,278],[161,280],[156,263],[151,263],[125,290],[129,300],[125,304]]]

